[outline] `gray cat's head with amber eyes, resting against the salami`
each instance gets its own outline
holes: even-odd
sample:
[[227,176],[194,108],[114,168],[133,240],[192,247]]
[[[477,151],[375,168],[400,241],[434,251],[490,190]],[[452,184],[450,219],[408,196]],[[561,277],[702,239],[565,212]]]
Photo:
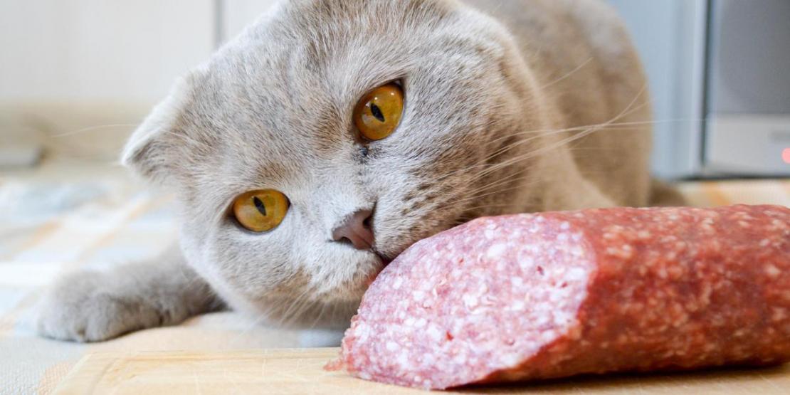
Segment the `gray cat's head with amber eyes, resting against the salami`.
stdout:
[[[281,2],[180,81],[123,160],[175,192],[187,259],[234,307],[344,325],[412,243],[512,209],[506,162],[537,122],[514,48],[450,0]],[[355,109],[382,86],[401,119],[366,138]],[[338,233],[349,221],[373,239]]]

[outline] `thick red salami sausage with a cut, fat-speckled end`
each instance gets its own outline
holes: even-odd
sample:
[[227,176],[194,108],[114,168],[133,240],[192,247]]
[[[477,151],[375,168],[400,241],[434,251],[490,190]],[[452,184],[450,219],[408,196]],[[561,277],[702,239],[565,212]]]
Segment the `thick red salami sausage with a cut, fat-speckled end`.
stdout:
[[790,360],[790,209],[474,220],[374,281],[340,359],[425,389]]

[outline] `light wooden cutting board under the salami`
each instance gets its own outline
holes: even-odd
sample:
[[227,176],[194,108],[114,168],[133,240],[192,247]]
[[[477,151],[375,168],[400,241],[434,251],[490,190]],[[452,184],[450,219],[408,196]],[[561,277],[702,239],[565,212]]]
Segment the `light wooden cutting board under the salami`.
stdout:
[[[266,350],[256,352],[100,353],[81,359],[55,390],[58,394],[181,393],[325,393],[419,394],[416,389],[386,386],[326,372],[337,348]],[[577,393],[577,394],[790,394],[790,365],[753,370],[708,371],[574,378],[558,382],[473,388],[453,393]]]

